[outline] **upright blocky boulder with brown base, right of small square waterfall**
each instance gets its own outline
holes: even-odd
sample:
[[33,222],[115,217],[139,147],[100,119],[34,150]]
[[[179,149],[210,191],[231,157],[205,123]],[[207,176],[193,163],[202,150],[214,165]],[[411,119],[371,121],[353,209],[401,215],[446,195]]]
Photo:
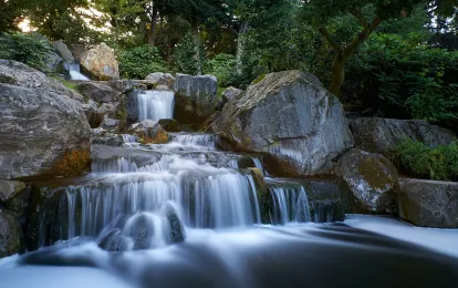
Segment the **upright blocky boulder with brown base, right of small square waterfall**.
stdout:
[[212,75],[177,74],[175,117],[183,124],[201,123],[216,110],[218,81]]

